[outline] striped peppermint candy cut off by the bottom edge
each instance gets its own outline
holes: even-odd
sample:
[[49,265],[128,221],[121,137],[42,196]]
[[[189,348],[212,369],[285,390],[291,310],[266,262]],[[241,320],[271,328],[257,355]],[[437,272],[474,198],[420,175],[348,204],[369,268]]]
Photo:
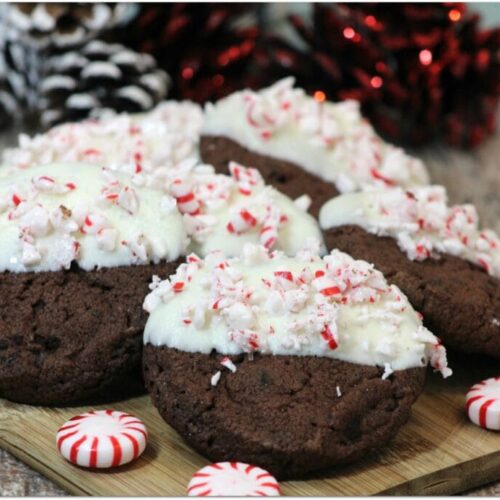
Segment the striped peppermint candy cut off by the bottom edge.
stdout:
[[219,462],[193,474],[187,494],[190,497],[278,497],[280,487],[269,472],[255,465]]

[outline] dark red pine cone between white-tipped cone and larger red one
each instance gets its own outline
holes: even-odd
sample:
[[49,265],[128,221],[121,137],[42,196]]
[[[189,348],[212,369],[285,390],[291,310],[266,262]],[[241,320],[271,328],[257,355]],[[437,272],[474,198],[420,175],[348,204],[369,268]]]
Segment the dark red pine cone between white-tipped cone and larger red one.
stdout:
[[[252,7],[252,8],[251,8]],[[173,79],[173,97],[205,102],[254,87],[259,29],[253,4],[141,4],[122,43],[153,55]]]

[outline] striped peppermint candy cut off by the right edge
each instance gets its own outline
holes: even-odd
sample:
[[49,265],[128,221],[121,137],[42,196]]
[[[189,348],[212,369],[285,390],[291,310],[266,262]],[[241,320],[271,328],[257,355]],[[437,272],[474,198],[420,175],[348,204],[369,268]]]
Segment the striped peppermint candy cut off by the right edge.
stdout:
[[500,431],[500,377],[473,385],[467,393],[465,408],[474,424]]

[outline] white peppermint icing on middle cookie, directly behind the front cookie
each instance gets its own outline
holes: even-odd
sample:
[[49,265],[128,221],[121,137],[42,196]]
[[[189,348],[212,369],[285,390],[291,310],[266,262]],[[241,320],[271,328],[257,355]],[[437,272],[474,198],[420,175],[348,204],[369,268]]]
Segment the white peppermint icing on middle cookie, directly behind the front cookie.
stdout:
[[260,243],[294,255],[311,239],[322,241],[316,220],[266,186],[257,170],[236,163],[229,167],[231,175],[225,176],[186,160],[156,171],[153,185],[163,186],[184,214],[191,251],[206,255],[223,249],[233,256],[245,243]]

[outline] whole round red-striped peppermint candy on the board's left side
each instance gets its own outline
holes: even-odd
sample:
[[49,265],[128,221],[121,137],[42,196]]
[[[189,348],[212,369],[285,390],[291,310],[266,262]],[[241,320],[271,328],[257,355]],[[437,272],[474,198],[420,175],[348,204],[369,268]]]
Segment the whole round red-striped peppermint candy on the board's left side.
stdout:
[[100,410],[68,420],[57,432],[57,448],[72,464],[105,469],[135,460],[147,439],[146,426],[138,418]]

